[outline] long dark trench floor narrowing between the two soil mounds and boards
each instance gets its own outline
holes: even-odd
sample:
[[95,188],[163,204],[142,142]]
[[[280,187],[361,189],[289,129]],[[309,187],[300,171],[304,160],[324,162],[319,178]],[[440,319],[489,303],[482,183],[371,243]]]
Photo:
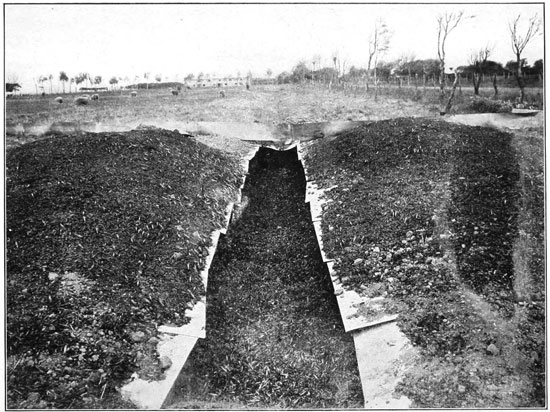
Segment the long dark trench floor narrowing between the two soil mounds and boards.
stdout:
[[261,148],[249,173],[248,205],[210,268],[206,338],[166,407],[362,408],[296,149]]

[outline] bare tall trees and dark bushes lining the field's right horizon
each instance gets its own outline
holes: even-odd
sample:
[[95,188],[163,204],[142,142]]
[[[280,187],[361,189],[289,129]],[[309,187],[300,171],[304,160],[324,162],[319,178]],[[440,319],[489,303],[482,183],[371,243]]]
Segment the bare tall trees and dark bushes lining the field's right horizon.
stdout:
[[[449,76],[446,68],[446,43],[451,33],[459,27],[460,23],[467,18],[475,16],[464,16],[464,12],[445,13],[437,19],[437,58],[435,59],[416,59],[414,55],[402,56],[396,61],[386,62],[383,56],[390,48],[392,36],[391,30],[382,19],[377,19],[373,31],[368,41],[368,63],[366,68],[357,68],[355,66],[346,67],[346,61],[338,53],[332,56],[332,66],[321,67],[321,58],[319,55],[313,57],[311,61],[312,69],[308,67],[305,61],[299,62],[291,72],[283,72],[277,76],[278,83],[296,83],[306,80],[333,82],[362,82],[367,88],[369,82],[378,85],[380,79],[389,81],[394,78],[401,82],[406,79],[410,84],[414,79],[415,83],[421,80],[425,85],[427,81],[432,80],[439,85],[442,112],[448,111],[460,78],[466,77],[471,80],[474,86],[475,94],[479,94],[479,87],[483,78],[490,78],[495,88],[495,94],[498,94],[497,78],[503,76],[508,78],[514,76],[520,88],[520,100],[525,98],[525,76],[537,75],[542,79],[543,60],[537,60],[533,66],[527,64],[526,59],[522,58],[524,49],[529,42],[540,32],[540,20],[535,15],[527,22],[527,29],[520,33],[519,23],[521,16],[517,16],[509,23],[510,40],[515,59],[502,64],[490,60],[492,48],[485,46],[477,51],[473,51],[466,64],[451,68],[453,75]],[[451,94],[447,96],[447,83],[449,79],[453,80]],[[375,88],[376,90],[376,88]]]

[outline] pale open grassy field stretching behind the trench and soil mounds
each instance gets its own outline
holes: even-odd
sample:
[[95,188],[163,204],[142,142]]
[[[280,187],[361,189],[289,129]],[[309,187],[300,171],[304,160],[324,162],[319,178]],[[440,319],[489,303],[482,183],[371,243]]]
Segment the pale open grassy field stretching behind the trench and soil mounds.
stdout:
[[[540,106],[542,89],[527,89],[527,99]],[[84,130],[113,131],[140,124],[170,128],[170,122],[246,122],[284,124],[325,121],[382,120],[391,117],[436,116],[439,113],[438,90],[382,85],[375,93],[364,88],[321,85],[259,86],[252,91],[228,88],[225,97],[219,89],[192,89],[172,96],[166,89],[140,89],[137,97],[130,91],[104,92],[98,101],[76,106],[78,94],[62,95],[62,104],[55,95],[24,95],[6,100],[8,134],[26,139],[73,126]],[[378,97],[377,97],[378,95]],[[457,92],[452,113],[476,113],[491,110],[487,102],[492,89],[481,89],[485,104],[474,104],[473,91],[464,87]],[[513,102],[517,89],[502,88],[504,102]],[[489,107],[487,107],[489,106]],[[492,107],[493,110],[497,109]],[[505,103],[503,110],[510,110]],[[53,127],[52,127],[53,126]],[[21,136],[23,135],[23,136]],[[8,137],[8,147],[16,144]]]

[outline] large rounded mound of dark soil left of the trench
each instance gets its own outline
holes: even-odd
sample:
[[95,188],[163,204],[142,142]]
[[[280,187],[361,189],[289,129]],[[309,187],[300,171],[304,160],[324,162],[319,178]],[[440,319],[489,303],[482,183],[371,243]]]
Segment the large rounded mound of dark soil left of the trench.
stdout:
[[177,132],[61,135],[7,152],[10,408],[127,406],[159,378],[157,326],[204,294],[237,159]]

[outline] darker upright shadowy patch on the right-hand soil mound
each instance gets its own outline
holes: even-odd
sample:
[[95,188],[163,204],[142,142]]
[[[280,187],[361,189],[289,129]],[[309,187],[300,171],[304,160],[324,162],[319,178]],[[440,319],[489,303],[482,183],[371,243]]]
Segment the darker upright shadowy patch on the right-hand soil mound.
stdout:
[[455,143],[449,208],[461,278],[507,317],[514,313],[519,198],[511,142],[509,134],[471,132]]

